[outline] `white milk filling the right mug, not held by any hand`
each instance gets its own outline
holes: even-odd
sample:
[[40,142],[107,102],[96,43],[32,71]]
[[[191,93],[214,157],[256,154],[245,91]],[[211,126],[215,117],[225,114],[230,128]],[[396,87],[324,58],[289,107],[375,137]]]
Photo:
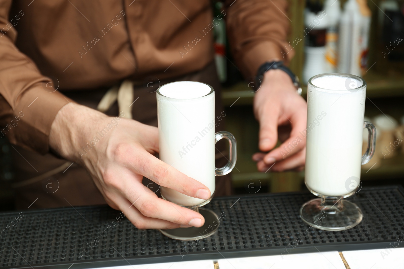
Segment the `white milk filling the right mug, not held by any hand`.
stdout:
[[[366,87],[347,90],[362,81],[338,75],[311,83],[322,89],[307,88],[305,182],[318,194],[344,196],[359,184],[348,179],[360,179]],[[347,181],[356,186],[347,188]]]

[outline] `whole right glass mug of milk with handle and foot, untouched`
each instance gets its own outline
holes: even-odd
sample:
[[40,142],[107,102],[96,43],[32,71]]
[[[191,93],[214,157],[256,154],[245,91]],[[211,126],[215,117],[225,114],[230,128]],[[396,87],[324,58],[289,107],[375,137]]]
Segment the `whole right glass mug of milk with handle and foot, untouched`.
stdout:
[[[328,73],[309,79],[305,184],[320,198],[303,204],[300,216],[318,229],[340,231],[362,221],[359,207],[343,198],[356,192],[361,165],[375,151],[375,126],[364,122],[365,98],[360,77]],[[369,139],[362,156],[363,128]]]

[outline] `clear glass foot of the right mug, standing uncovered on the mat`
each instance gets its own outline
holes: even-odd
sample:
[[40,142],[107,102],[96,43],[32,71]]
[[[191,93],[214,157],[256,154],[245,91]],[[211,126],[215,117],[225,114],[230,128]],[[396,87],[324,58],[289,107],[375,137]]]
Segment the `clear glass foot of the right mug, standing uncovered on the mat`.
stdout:
[[362,211],[353,202],[339,199],[316,198],[303,204],[300,217],[314,228],[343,231],[362,221]]

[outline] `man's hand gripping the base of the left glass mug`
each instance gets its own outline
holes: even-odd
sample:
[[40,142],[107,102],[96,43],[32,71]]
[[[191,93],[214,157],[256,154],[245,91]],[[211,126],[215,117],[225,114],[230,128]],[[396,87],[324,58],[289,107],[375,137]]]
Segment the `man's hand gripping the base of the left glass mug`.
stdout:
[[161,198],[142,184],[143,176],[188,196],[208,199],[209,189],[153,156],[158,129],[122,117],[107,117],[69,103],[57,113],[50,147],[85,167],[105,200],[139,229],[200,227],[199,213]]

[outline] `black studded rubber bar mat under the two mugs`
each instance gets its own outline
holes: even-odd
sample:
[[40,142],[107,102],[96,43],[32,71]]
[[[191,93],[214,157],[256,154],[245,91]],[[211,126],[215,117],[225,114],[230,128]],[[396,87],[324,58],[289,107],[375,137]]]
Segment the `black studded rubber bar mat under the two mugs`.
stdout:
[[136,229],[107,206],[0,213],[0,266],[78,269],[402,245],[402,187],[363,188],[348,198],[364,218],[346,231],[305,224],[299,209],[312,198],[307,192],[214,198],[205,207],[220,216],[219,229],[198,241]]

